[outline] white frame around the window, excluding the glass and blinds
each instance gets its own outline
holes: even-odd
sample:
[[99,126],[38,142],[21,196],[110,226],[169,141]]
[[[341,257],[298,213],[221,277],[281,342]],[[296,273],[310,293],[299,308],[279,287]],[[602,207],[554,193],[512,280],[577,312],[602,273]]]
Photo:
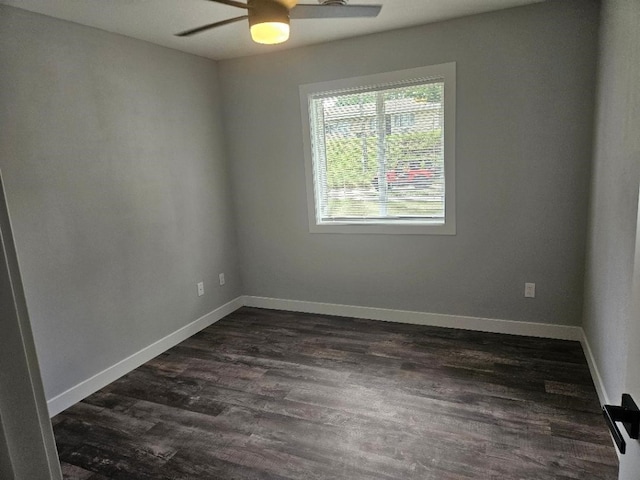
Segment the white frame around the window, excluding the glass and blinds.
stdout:
[[[372,221],[330,221],[323,222],[316,212],[319,193],[314,168],[311,126],[310,96],[318,93],[360,90],[367,87],[387,85],[396,82],[408,82],[412,79],[438,79],[444,82],[444,175],[445,175],[445,213],[444,221],[406,221],[402,219]],[[305,174],[307,183],[307,206],[309,213],[309,231],[311,233],[373,233],[373,234],[421,234],[455,235],[455,124],[456,124],[456,64],[455,62],[427,67],[412,68],[394,72],[379,73],[361,77],[332,80],[328,82],[300,85],[300,106],[302,111],[303,146]]]

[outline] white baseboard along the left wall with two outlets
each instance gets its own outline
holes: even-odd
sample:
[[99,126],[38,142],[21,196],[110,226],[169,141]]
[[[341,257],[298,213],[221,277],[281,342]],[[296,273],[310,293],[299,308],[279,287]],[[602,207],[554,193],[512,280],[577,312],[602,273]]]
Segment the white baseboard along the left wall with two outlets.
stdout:
[[151,345],[143,348],[139,352],[136,352],[133,355],[128,356],[124,360],[119,361],[115,365],[112,365],[104,369],[100,373],[95,374],[93,377],[80,382],[79,384],[62,392],[60,395],[56,395],[55,397],[47,401],[49,416],[53,417],[63,410],[66,410],[83,398],[86,398],[92,393],[97,392],[101,388],[106,387],[111,382],[114,382],[123,375],[138,368],[140,365],[148,362],[152,358],[157,357],[169,348],[176,346],[180,342],[183,342],[187,338],[195,335],[200,330],[208,327],[209,325],[212,325],[221,318],[224,318],[230,313],[233,313],[242,306],[242,297],[235,298],[234,300],[225,303],[221,307],[218,307],[215,310],[207,313],[206,315],[203,315],[197,320],[194,320],[193,322],[185,325],[184,327],[176,330],[166,337],[161,338],[157,342],[154,342]]

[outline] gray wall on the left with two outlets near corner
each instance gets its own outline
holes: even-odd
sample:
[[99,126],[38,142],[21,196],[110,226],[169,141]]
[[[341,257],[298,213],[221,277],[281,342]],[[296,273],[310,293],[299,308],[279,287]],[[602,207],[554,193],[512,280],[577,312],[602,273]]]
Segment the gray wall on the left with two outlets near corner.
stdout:
[[0,168],[51,398],[240,295],[218,72],[5,6],[0,45]]

